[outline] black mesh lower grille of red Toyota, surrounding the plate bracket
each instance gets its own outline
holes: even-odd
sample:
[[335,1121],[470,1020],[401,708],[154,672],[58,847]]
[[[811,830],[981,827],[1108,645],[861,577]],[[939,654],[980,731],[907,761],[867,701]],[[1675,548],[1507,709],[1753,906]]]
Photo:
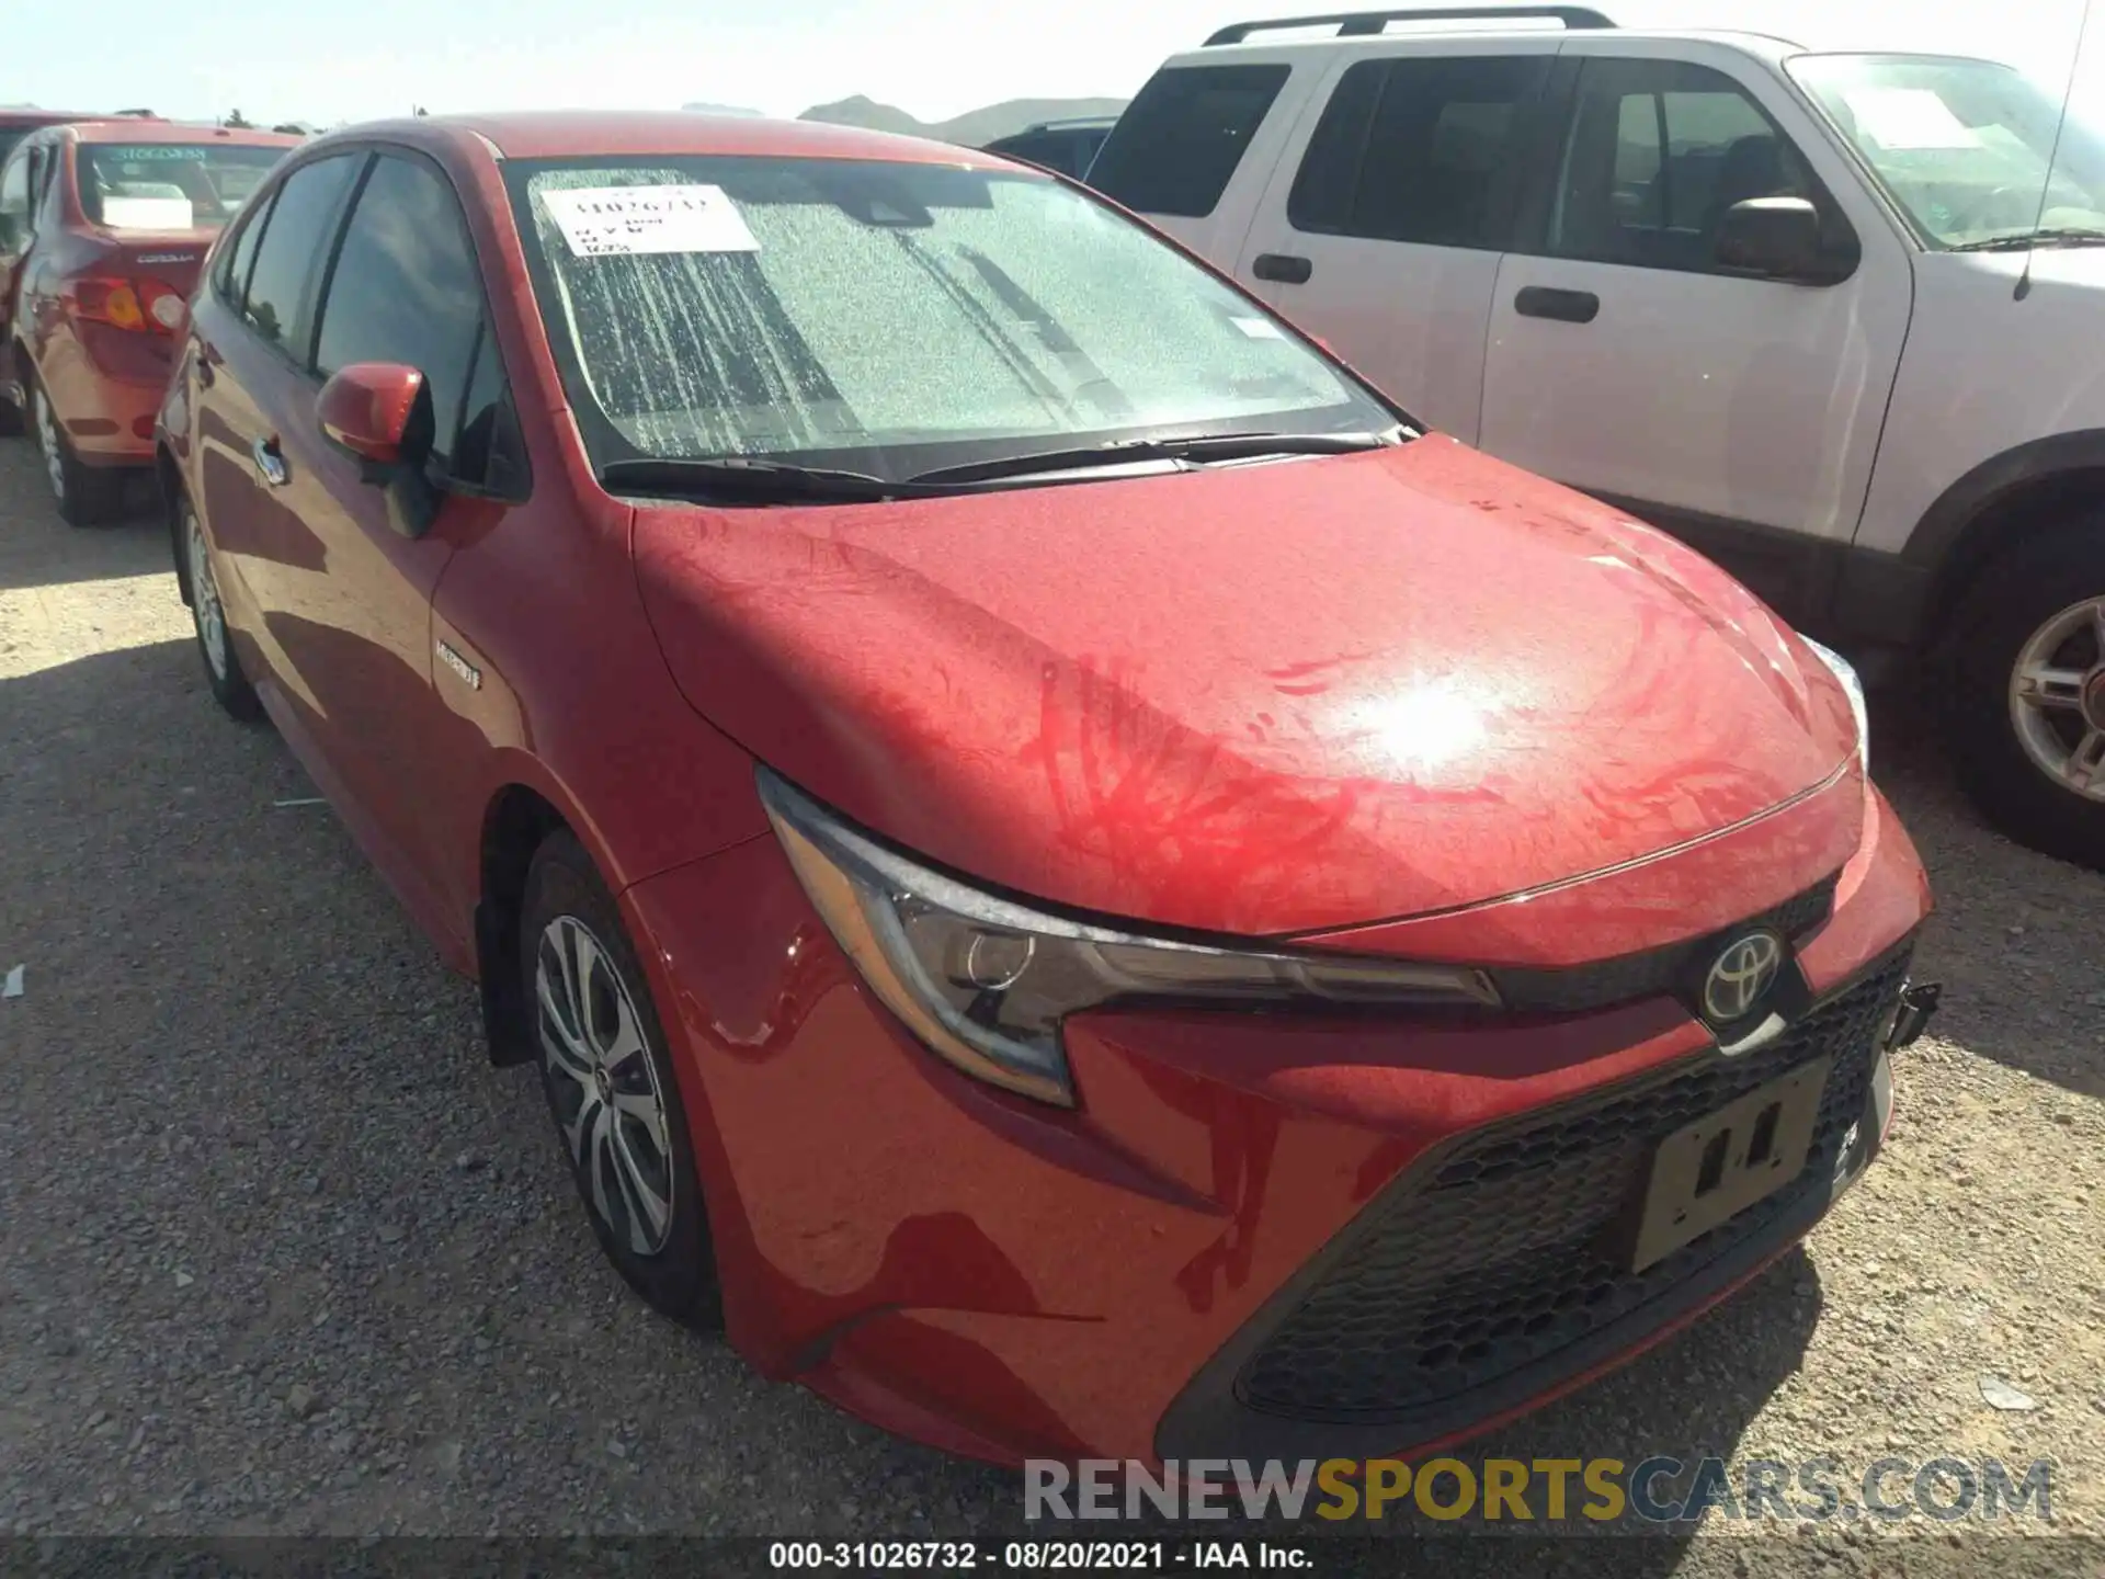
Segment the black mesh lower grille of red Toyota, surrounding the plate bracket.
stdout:
[[[1741,1059],[1707,1051],[1425,1160],[1347,1230],[1337,1265],[1244,1364],[1236,1394],[1297,1419],[1402,1417],[1549,1360],[1648,1301],[1671,1303],[1678,1284],[1829,1187],[1905,975],[1899,956]],[[1804,1173],[1629,1272],[1619,1230],[1657,1145],[1821,1055],[1836,1063]]]

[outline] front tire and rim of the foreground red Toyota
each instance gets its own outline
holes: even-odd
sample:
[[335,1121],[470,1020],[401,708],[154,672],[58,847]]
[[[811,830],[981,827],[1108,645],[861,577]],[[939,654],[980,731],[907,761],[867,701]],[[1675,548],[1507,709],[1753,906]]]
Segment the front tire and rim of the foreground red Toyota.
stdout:
[[716,1253],[665,1032],[621,912],[568,830],[549,834],[526,872],[520,981],[556,1139],[600,1251],[653,1310],[716,1326]]

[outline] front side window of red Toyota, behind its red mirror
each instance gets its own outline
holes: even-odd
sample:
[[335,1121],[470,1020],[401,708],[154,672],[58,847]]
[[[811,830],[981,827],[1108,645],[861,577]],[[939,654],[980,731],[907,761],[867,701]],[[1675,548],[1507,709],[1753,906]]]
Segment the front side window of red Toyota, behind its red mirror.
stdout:
[[455,448],[482,326],[482,274],[446,179],[421,160],[383,154],[358,192],[330,265],[322,333],[326,377],[352,362],[400,362],[432,392],[440,461]]

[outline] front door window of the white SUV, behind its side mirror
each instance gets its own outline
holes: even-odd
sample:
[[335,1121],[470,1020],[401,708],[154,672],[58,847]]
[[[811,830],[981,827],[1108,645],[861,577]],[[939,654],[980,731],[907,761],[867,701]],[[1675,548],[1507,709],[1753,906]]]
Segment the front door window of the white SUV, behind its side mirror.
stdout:
[[1682,61],[1587,61],[1549,253],[1713,269],[1726,211],[1785,196],[1827,208],[1798,147],[1732,78]]

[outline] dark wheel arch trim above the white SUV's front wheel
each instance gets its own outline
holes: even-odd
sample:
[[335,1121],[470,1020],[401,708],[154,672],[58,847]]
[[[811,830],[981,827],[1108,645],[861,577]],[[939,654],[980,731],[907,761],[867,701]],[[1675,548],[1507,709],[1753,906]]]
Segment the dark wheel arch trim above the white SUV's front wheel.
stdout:
[[1924,644],[1934,644],[1960,594],[1991,560],[2086,505],[2105,505],[2105,427],[2019,444],[1945,488],[1901,549],[1903,564],[1928,577]]

